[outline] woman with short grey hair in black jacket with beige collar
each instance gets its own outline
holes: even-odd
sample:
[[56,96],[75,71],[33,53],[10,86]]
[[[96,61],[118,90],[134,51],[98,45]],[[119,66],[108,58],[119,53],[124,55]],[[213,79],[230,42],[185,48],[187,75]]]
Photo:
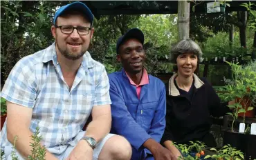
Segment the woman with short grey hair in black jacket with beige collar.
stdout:
[[177,70],[165,85],[167,113],[161,141],[176,156],[181,154],[172,141],[183,144],[202,141],[206,146],[216,146],[210,134],[210,116],[223,116],[230,111],[228,103],[233,103],[221,103],[210,83],[194,74],[202,54],[199,45],[190,39],[179,41],[171,50],[170,61]]

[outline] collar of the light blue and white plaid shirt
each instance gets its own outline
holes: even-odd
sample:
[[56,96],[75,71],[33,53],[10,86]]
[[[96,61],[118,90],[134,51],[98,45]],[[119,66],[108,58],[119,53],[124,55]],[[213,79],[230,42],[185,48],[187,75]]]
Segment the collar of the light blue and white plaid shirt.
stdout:
[[[43,63],[47,63],[48,61],[53,61],[54,66],[58,64],[55,42],[44,50]],[[91,54],[88,51],[83,56],[82,66],[84,68],[93,68],[95,66]]]

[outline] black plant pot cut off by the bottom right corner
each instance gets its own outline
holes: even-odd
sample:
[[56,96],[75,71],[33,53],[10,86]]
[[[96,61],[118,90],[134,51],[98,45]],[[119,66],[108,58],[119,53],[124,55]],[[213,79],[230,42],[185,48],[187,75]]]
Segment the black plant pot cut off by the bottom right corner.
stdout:
[[245,134],[245,159],[256,159],[256,135]]

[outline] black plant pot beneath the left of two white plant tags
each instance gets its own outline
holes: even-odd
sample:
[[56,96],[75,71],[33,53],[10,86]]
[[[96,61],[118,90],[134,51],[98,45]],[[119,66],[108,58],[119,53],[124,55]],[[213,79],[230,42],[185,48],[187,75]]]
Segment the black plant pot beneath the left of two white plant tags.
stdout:
[[223,133],[223,146],[230,144],[233,148],[237,148],[243,153],[245,152],[246,134],[231,132],[230,130],[223,130]]

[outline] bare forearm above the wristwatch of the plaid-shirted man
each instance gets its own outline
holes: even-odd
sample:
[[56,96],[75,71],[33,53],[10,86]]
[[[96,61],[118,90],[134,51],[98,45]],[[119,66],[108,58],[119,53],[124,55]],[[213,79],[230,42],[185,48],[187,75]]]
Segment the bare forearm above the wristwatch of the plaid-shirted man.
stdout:
[[111,128],[111,116],[102,115],[97,119],[93,119],[89,126],[86,128],[85,135],[93,137],[95,141],[102,140],[107,134],[109,134]]

